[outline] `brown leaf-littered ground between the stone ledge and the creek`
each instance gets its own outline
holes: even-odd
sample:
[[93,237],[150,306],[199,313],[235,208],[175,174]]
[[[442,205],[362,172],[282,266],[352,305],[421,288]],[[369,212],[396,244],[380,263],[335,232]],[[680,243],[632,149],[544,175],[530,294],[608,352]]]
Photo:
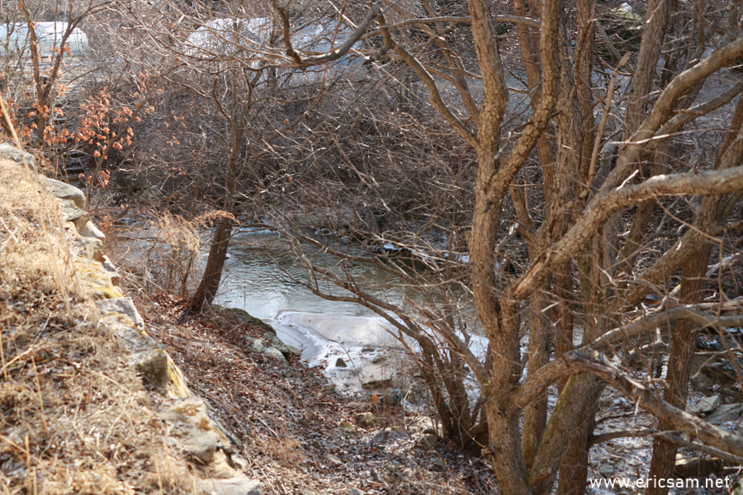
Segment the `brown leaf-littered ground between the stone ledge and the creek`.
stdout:
[[245,337],[265,330],[228,312],[183,319],[185,301],[165,294],[139,297],[137,306],[191,390],[236,437],[243,471],[265,493],[499,493],[486,460],[434,442],[430,418],[340,395],[298,356],[253,352]]

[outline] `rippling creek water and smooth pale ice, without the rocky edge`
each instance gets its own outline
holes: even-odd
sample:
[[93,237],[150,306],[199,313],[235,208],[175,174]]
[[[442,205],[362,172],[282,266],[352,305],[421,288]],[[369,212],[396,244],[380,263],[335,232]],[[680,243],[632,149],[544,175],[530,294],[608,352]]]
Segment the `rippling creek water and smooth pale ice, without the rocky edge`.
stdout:
[[[313,246],[303,246],[313,264],[342,273],[338,260]],[[348,274],[364,289],[387,302],[400,304],[405,291],[397,279],[373,263],[355,262]],[[307,361],[317,359],[328,342],[394,347],[387,323],[373,311],[353,302],[332,301],[312,293],[299,281],[308,272],[288,248],[285,239],[266,231],[240,232],[230,245],[225,278],[215,302],[244,309],[273,326],[286,344],[302,349]],[[324,292],[337,297],[352,294],[329,282],[317,281]]]

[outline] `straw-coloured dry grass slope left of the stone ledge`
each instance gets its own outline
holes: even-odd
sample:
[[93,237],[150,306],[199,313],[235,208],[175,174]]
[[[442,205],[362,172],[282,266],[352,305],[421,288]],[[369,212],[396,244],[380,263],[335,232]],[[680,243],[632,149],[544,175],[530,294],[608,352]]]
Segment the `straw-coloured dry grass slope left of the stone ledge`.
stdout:
[[79,292],[56,202],[9,162],[0,184],[0,494],[193,493]]

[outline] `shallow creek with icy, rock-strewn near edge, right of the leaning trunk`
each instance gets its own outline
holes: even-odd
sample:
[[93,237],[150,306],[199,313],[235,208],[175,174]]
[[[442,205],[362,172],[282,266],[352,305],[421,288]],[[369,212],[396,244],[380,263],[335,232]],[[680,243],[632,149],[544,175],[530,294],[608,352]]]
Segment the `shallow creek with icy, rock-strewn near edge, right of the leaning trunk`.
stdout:
[[[337,258],[310,245],[303,250],[313,264],[341,273]],[[399,357],[402,346],[387,331],[389,323],[359,304],[324,299],[300,284],[307,269],[285,239],[267,231],[238,232],[229,254],[216,304],[243,309],[271,325],[282,342],[300,349],[310,367],[322,367],[342,390],[359,391],[365,383],[390,378],[392,356]],[[378,265],[353,262],[347,269],[386,302],[400,304],[408,296]],[[329,282],[318,284],[334,296],[350,295]]]

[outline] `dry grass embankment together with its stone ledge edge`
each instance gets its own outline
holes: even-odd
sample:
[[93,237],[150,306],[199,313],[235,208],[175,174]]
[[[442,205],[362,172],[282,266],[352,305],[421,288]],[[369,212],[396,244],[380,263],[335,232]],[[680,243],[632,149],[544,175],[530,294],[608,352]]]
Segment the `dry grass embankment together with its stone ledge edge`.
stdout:
[[117,287],[82,193],[0,155],[0,491],[258,493]]

